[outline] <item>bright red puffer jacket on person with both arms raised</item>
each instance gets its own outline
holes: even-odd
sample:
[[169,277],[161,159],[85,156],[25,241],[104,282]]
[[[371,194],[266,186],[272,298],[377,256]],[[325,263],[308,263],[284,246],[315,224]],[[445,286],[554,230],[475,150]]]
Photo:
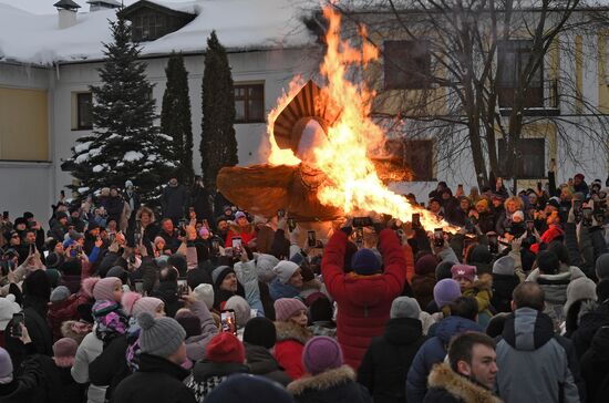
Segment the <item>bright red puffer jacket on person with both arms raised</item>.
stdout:
[[402,293],[406,280],[406,260],[400,240],[390,229],[381,231],[379,238],[383,273],[343,272],[347,235],[342,231],[330,238],[321,262],[326,287],[338,303],[337,338],[345,363],[355,370],[372,338],[383,334],[391,302]]

